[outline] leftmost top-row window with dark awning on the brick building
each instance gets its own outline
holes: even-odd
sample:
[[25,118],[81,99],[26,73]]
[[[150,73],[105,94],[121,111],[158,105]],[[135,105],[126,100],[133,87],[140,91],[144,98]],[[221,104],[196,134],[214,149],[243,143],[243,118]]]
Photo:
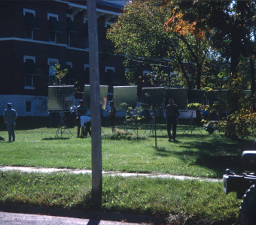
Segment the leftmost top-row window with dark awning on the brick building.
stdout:
[[39,29],[38,21],[35,19],[35,10],[23,8],[25,17],[25,38],[34,39],[34,30]]

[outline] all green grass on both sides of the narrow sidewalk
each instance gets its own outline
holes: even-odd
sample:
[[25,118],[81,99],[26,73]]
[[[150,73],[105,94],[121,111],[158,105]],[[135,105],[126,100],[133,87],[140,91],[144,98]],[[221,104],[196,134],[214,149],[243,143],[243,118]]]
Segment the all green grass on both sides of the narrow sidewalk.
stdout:
[[[0,165],[91,169],[91,138],[55,138],[56,128],[29,124],[20,121],[15,142],[0,142]],[[222,178],[226,168],[242,172],[242,151],[252,148],[254,141],[251,137],[236,142],[221,133],[209,135],[203,128],[184,132],[190,131],[184,121],[178,127],[178,142],[168,142],[162,121],[155,148],[154,136],[145,130],[147,123],[139,130],[139,139],[133,131],[131,139],[110,139],[108,121],[102,124],[105,171]],[[76,136],[76,128],[69,130]],[[1,127],[0,136],[8,139]],[[90,180],[90,175],[0,172],[0,203],[90,209]],[[102,209],[160,215],[169,222],[170,214],[237,222],[239,200],[221,189],[221,182],[103,176]]]

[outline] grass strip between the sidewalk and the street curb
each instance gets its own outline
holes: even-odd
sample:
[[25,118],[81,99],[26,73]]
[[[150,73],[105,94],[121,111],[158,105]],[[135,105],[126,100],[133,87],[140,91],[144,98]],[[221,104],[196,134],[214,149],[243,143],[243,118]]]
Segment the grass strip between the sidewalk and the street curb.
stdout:
[[[91,176],[0,172],[0,203],[91,210]],[[220,182],[103,176],[102,210],[236,222],[239,200]],[[173,221],[172,221],[173,222]],[[177,221],[176,221],[177,222]],[[172,223],[173,224],[173,223]],[[178,223],[180,224],[180,223]]]

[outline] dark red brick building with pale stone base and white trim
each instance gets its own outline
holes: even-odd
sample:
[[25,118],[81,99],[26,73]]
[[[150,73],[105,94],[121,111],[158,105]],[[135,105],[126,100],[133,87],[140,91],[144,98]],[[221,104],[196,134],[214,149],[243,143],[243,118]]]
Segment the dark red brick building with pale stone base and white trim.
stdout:
[[[119,1],[97,1],[100,85],[126,85],[123,58],[111,54],[108,26],[117,20]],[[89,84],[86,1],[0,1],[0,113],[12,102],[20,116],[47,115],[48,86],[55,64],[68,68],[65,84]],[[76,100],[81,94],[75,95]]]

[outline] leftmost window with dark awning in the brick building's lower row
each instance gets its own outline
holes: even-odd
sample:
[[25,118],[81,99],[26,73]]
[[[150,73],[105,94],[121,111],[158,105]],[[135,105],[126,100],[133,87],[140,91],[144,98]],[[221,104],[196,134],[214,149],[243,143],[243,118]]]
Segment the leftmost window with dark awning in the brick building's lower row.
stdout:
[[24,89],[35,89],[34,77],[39,75],[35,67],[35,56],[24,55],[23,62],[25,65]]

